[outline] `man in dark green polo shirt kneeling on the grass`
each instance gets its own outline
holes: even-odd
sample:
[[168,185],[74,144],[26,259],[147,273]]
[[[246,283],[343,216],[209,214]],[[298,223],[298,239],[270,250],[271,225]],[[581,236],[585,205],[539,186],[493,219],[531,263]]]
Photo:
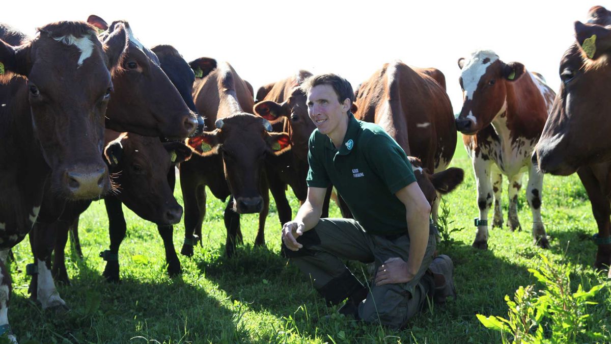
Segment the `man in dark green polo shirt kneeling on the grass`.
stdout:
[[[376,124],[349,111],[354,92],[334,74],[305,80],[310,119],[307,200],[295,220],[285,223],[285,255],[333,305],[367,322],[404,327],[429,296],[437,302],[455,296],[453,264],[433,259],[431,207],[415,182],[408,157]],[[354,219],[321,219],[327,187],[334,185]],[[375,262],[370,289],[340,259]]]

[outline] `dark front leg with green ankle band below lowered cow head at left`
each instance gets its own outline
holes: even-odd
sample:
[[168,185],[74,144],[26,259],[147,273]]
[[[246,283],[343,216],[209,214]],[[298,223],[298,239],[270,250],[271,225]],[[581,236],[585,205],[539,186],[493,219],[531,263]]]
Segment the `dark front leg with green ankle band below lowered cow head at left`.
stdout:
[[100,256],[106,261],[106,267],[104,267],[102,275],[106,277],[108,282],[119,282],[119,246],[125,238],[127,226],[121,201],[118,198],[106,196],[104,204],[106,205],[106,214],[108,214],[108,234],[111,245],[110,250],[100,253]]

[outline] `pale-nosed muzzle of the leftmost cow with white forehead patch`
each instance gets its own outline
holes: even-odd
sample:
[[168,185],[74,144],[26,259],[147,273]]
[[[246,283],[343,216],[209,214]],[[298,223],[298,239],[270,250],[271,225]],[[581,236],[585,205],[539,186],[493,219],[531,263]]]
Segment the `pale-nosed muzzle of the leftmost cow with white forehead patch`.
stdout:
[[51,178],[53,192],[75,201],[100,198],[111,185],[108,168],[102,162],[65,164],[54,169]]

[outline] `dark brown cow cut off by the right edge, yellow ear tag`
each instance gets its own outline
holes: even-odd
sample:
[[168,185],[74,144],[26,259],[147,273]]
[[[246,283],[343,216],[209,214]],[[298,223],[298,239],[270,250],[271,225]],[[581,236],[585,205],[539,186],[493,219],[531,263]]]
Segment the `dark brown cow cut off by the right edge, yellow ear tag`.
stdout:
[[[594,266],[611,264],[611,12],[595,6],[588,23],[575,23],[577,42],[560,61],[560,91],[547,119],[533,161],[544,173],[577,171],[598,224]],[[570,101],[569,101],[570,100]],[[611,272],[609,272],[611,277]]]

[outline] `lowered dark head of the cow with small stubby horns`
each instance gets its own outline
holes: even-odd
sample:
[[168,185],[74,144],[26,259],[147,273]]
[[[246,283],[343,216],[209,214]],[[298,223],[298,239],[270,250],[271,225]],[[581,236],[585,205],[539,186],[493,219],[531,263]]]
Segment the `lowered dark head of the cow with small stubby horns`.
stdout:
[[222,154],[225,178],[240,214],[260,212],[263,199],[259,185],[265,158],[288,151],[287,133],[272,132],[266,119],[247,113],[218,119],[216,130],[188,139],[199,155]]

